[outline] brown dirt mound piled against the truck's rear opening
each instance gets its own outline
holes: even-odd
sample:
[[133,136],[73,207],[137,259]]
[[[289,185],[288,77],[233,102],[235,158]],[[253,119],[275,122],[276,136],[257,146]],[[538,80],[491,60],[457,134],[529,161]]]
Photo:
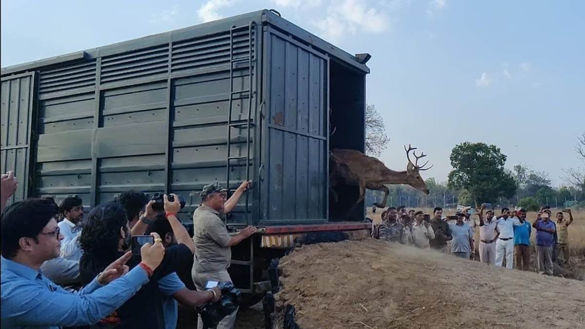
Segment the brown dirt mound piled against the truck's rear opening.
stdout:
[[585,327],[585,284],[366,239],[280,262],[277,305],[302,328]]

